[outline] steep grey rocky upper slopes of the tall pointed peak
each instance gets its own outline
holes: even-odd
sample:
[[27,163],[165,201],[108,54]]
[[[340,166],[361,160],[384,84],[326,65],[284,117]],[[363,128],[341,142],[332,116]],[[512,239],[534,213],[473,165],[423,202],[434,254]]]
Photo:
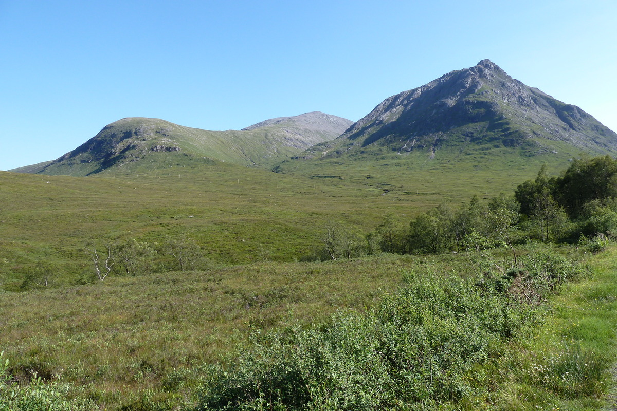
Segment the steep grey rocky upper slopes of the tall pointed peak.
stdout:
[[595,118],[511,78],[487,59],[389,97],[336,141],[434,153],[444,145],[487,140],[529,150],[541,149],[542,140],[593,152],[617,149],[617,134]]

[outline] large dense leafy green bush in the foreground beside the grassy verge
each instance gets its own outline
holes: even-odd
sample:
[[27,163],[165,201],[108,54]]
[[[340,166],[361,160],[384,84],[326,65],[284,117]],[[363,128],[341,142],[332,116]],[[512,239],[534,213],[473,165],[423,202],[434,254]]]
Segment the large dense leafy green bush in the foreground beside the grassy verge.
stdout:
[[474,367],[497,356],[534,309],[461,279],[405,279],[366,314],[255,333],[230,368],[210,370],[199,409],[420,410],[473,396]]

